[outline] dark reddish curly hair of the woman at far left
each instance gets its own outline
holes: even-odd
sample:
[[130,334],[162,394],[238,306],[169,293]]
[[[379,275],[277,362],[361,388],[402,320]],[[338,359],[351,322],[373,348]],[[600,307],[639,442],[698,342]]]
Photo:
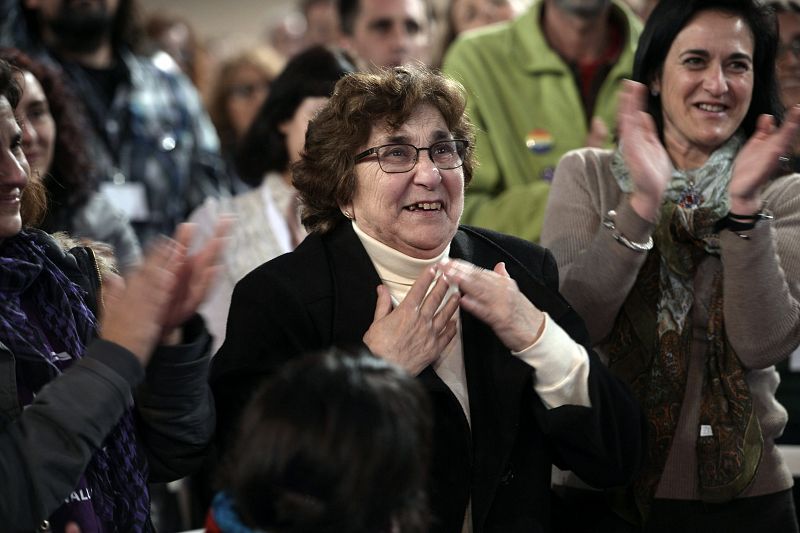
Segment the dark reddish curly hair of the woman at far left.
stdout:
[[19,70],[30,72],[39,81],[56,124],[53,163],[41,176],[51,211],[84,205],[94,190],[94,180],[88,147],[84,142],[86,130],[80,115],[80,103],[53,68],[14,48],[0,49],[0,58]]

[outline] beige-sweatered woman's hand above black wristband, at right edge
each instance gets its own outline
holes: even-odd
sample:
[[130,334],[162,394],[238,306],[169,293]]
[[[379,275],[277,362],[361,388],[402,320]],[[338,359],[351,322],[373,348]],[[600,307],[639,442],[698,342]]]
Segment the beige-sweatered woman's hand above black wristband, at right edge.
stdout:
[[779,157],[792,154],[800,131],[800,106],[792,106],[780,128],[771,115],[758,117],[756,131],[739,151],[733,166],[728,195],[731,212],[750,215],[761,209],[761,188],[775,174]]

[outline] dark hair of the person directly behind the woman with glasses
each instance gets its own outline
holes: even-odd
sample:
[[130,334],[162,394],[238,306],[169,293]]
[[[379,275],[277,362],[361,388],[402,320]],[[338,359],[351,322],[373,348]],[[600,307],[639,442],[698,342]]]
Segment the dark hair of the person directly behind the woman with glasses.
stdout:
[[289,165],[280,125],[291,120],[306,98],[330,96],[336,82],[355,70],[339,52],[313,46],[292,58],[269,88],[269,95],[242,140],[236,169],[245,183],[258,186],[264,174]]

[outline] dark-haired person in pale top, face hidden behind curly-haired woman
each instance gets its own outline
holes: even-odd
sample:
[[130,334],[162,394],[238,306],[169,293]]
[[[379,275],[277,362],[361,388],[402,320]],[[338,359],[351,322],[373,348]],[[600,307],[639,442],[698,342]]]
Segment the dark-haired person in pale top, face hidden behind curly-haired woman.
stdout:
[[233,198],[209,198],[190,217],[198,226],[196,245],[213,237],[220,216],[236,219],[220,277],[200,308],[215,352],[225,340],[236,283],[260,264],[293,250],[305,237],[289,168],[300,159],[308,121],[352,68],[341,54],[319,46],[289,61],[240,149],[242,179],[254,189]]

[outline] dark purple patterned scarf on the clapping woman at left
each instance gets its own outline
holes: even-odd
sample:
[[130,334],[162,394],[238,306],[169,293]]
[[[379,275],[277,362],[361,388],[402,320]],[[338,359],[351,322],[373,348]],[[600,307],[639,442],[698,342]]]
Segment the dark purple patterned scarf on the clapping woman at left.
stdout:
[[[61,374],[48,339],[61,343],[74,361],[94,336],[97,323],[84,297],[35,234],[23,231],[0,244],[0,342],[14,354],[18,382],[32,392]],[[34,309],[37,320],[25,309]],[[95,512],[109,531],[152,531],[147,463],[138,453],[131,408],[94,453],[85,475]]]

